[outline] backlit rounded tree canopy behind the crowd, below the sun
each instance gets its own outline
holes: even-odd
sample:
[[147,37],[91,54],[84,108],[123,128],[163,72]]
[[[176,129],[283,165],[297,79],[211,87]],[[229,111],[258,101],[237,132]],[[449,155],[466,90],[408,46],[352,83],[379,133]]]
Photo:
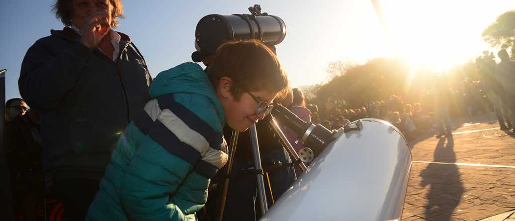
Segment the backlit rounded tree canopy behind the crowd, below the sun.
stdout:
[[[449,72],[439,74],[447,79],[452,87],[450,89],[454,91],[461,90],[460,83],[467,77],[477,80],[474,62],[458,65]],[[441,78],[437,77],[432,68],[413,69],[402,60],[376,58],[346,69],[345,75],[335,76],[325,84],[305,87],[309,89],[303,92],[316,93],[316,97],[310,95],[306,102],[317,104],[321,109],[326,108],[328,102],[334,101],[345,101],[347,107],[356,108],[364,103],[387,100],[391,95],[401,96],[408,103],[421,102],[431,97],[439,82]]]

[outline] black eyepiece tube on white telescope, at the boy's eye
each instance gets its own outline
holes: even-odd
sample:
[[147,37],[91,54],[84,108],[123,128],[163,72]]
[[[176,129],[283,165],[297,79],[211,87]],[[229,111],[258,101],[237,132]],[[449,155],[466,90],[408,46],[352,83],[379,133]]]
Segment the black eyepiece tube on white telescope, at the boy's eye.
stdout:
[[315,155],[334,139],[333,132],[321,124],[314,125],[312,122],[305,122],[281,104],[274,104],[271,114],[279,119],[280,123],[297,133],[297,138],[302,139],[306,146],[313,149]]

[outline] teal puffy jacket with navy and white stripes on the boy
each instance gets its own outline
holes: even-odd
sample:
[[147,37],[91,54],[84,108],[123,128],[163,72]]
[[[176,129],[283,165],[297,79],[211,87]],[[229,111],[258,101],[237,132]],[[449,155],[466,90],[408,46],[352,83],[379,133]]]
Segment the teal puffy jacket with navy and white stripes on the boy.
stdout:
[[195,220],[227,162],[224,111],[198,64],[159,73],[150,96],[119,138],[86,220]]

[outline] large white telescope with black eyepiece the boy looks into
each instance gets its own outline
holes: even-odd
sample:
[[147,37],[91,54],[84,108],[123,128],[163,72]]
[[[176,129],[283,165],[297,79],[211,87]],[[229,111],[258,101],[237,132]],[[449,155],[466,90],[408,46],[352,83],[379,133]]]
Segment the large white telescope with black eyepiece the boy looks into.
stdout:
[[401,219],[411,152],[397,127],[365,118],[329,136],[281,105],[271,114],[320,153],[260,220]]

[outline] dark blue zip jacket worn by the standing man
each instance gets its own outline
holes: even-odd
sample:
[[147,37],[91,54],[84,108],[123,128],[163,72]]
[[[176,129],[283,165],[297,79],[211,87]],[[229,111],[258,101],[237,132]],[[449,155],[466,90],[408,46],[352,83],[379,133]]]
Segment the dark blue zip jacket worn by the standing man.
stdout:
[[124,127],[148,101],[152,79],[123,33],[115,62],[80,44],[69,27],[51,33],[28,49],[20,94],[41,111],[45,169],[55,178],[99,180]]

